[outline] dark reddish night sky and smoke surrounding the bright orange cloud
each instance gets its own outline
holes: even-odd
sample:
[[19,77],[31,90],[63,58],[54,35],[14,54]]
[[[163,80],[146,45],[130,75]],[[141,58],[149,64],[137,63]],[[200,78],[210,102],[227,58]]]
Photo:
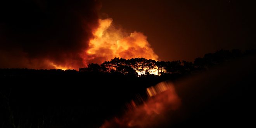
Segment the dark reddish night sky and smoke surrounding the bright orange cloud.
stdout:
[[256,48],[255,10],[242,0],[3,1],[0,67],[85,67],[83,51],[99,18],[112,18],[127,33],[144,33],[162,61]]

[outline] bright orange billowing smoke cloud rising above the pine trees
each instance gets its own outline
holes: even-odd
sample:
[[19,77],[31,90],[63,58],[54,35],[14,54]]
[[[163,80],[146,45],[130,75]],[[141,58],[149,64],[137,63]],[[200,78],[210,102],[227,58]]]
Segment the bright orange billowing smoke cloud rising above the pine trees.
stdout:
[[112,25],[112,19],[99,19],[99,27],[93,32],[95,36],[89,42],[85,52],[85,63],[110,61],[114,57],[131,59],[144,57],[157,60],[147,41],[147,36],[140,32],[127,34]]

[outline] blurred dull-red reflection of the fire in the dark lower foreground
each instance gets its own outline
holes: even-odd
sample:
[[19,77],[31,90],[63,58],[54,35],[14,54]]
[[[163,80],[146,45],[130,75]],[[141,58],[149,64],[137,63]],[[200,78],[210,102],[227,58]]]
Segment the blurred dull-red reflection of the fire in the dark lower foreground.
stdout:
[[126,112],[122,118],[106,121],[101,128],[151,128],[164,120],[164,114],[177,110],[181,105],[172,83],[161,82],[147,88],[147,93],[149,94],[147,102],[136,106],[132,101],[131,105],[135,109]]

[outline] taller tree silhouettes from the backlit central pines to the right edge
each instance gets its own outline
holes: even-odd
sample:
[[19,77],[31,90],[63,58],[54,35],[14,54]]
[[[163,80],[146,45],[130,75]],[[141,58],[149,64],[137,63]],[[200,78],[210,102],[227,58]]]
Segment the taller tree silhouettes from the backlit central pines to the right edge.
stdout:
[[[128,76],[144,75],[166,75],[166,74],[190,74],[192,71],[207,70],[213,66],[226,62],[230,59],[242,57],[255,53],[255,50],[246,50],[242,52],[238,49],[218,50],[215,53],[205,54],[194,62],[189,61],[155,61],[145,58],[114,58],[111,61],[105,61],[102,64],[91,63],[87,67],[80,68],[79,72],[94,73],[121,73]],[[138,75],[140,74],[140,75]]]

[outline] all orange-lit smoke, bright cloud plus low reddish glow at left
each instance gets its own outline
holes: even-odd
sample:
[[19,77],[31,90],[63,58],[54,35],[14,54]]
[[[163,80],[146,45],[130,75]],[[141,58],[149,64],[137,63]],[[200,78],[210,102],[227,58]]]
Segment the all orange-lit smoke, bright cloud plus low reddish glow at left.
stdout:
[[[125,59],[136,57],[153,60],[158,59],[158,56],[154,53],[147,41],[147,36],[143,33],[136,31],[130,34],[125,33],[121,28],[117,29],[112,25],[111,18],[98,19],[99,25],[97,26],[95,24],[91,25],[92,27],[90,29],[84,28],[84,31],[90,34],[84,35],[86,38],[82,41],[77,41],[79,42],[78,44],[75,41],[74,43],[68,44],[70,46],[58,44],[55,50],[49,47],[51,49],[50,52],[47,52],[46,48],[41,48],[40,50],[35,50],[35,53],[31,53],[33,57],[28,57],[30,52],[29,54],[27,52],[24,52],[24,54],[21,54],[23,52],[15,52],[19,50],[12,50],[14,52],[12,54],[15,54],[17,57],[5,57],[5,55],[9,55],[10,53],[0,51],[2,53],[0,59],[6,60],[6,64],[3,63],[0,66],[2,68],[78,70],[80,67],[86,67],[90,63],[101,64],[104,61],[114,59],[114,57]],[[38,51],[44,50],[45,52],[39,52],[44,54],[37,55]]]

